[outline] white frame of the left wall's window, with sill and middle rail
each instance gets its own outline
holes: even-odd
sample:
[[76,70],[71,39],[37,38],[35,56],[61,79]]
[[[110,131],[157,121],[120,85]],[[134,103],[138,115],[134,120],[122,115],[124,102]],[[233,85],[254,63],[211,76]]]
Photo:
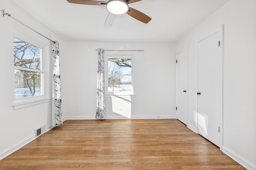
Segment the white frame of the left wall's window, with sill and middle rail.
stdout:
[[[13,109],[20,109],[23,107],[33,106],[36,104],[42,104],[45,102],[50,102],[50,81],[49,81],[49,72],[50,72],[50,59],[49,59],[49,47],[42,43],[42,41],[38,39],[34,39],[31,37],[28,37],[27,35],[24,35],[18,31],[14,31],[14,35],[12,39],[17,38],[21,41],[24,41],[26,43],[30,43],[31,45],[34,45],[41,49],[41,57],[40,57],[40,70],[35,70],[32,68],[24,68],[20,66],[14,66],[13,69],[13,75],[14,70],[26,70],[26,71],[32,71],[32,72],[40,72],[43,73],[43,76],[40,79],[41,83],[41,90],[42,95],[40,96],[31,96],[26,98],[14,98],[14,91],[13,91],[13,98],[14,98],[14,104],[12,105]],[[12,43],[13,44],[13,43]],[[14,82],[13,82],[14,87]],[[14,90],[14,88],[13,88]]]

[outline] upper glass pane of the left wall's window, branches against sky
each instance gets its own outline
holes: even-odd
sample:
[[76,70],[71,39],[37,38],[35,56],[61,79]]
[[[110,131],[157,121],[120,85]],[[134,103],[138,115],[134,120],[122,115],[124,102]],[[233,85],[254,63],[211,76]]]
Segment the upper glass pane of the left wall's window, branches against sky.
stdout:
[[14,37],[14,66],[40,70],[41,49]]

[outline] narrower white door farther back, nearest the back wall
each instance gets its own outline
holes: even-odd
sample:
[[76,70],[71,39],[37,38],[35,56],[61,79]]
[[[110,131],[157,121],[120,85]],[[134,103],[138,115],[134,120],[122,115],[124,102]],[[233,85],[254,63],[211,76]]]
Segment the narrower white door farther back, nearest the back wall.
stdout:
[[176,53],[176,119],[188,123],[188,48]]

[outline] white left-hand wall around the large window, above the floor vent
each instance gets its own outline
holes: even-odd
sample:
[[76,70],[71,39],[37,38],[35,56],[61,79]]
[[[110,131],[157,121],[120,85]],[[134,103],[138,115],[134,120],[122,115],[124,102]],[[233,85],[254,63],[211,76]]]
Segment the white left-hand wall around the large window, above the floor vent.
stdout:
[[[11,14],[16,19],[23,21],[30,27],[53,40],[60,41],[64,49],[64,43],[56,37],[48,28],[36,19],[27,15],[18,6],[6,0],[0,0],[0,8]],[[14,104],[14,63],[13,63],[13,37],[14,30],[31,38],[40,40],[49,47],[50,41],[31,31],[8,16],[0,16],[0,160],[14,152],[19,147],[35,139],[34,129],[51,123],[51,102],[38,104],[21,109],[12,109]],[[50,69],[51,70],[51,69]],[[50,81],[50,80],[49,80]]]

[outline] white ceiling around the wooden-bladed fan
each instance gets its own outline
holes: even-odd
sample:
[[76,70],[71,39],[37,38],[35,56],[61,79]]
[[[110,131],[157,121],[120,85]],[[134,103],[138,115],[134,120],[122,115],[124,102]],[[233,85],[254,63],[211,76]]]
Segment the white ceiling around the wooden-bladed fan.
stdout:
[[228,1],[142,0],[129,6],[150,16],[149,23],[122,14],[111,27],[104,27],[106,6],[70,4],[66,0],[12,0],[66,41],[150,42],[176,42]]

